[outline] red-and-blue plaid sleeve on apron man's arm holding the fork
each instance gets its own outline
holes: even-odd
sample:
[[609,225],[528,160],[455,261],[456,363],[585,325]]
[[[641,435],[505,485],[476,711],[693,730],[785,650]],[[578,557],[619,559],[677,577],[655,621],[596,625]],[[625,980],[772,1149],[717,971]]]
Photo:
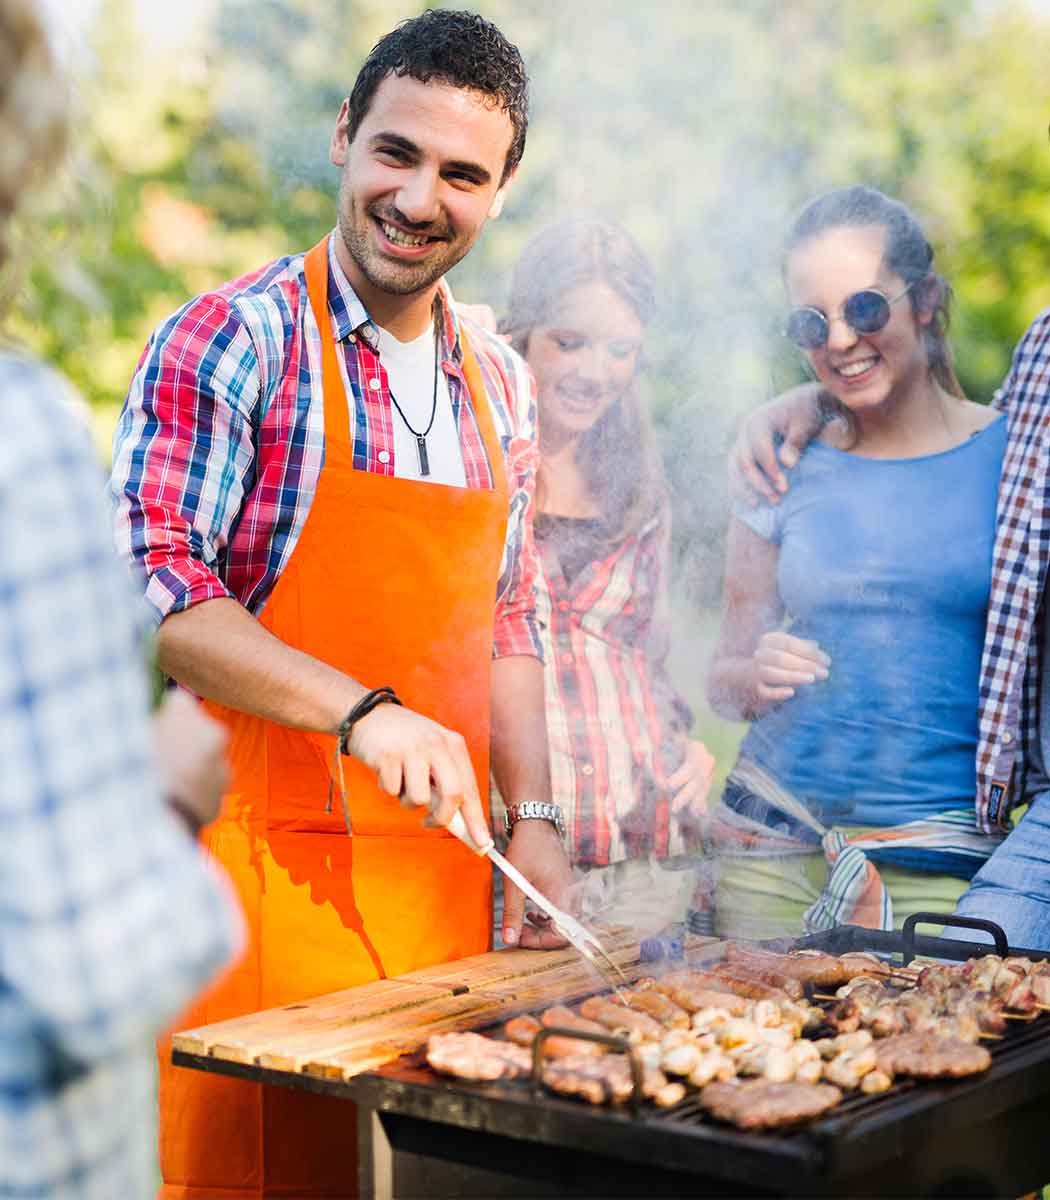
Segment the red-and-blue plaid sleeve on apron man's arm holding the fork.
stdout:
[[217,572],[251,486],[259,365],[220,295],[192,300],[150,338],[113,442],[118,548],[145,576],[160,623],[229,596]]

